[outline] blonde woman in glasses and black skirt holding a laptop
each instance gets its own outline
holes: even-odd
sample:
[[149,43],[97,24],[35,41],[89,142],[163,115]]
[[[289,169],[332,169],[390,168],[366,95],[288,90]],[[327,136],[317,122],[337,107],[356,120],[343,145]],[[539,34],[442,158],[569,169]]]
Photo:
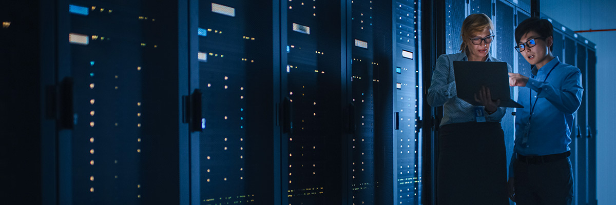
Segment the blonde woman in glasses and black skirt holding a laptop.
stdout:
[[[456,97],[454,61],[500,60],[490,56],[494,25],[485,14],[462,23],[460,53],[440,55],[428,89],[428,103],[443,106],[437,153],[437,204],[509,204],[507,159],[501,118],[506,108],[493,102],[489,88],[479,90],[474,106]],[[511,66],[508,65],[509,71]]]

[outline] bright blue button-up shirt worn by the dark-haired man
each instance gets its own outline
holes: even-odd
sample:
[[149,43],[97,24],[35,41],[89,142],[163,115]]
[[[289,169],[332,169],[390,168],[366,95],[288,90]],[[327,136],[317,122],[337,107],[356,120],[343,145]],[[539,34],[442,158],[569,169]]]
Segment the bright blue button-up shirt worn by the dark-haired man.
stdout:
[[509,177],[513,177],[516,153],[543,156],[570,150],[573,113],[582,103],[580,69],[554,57],[539,70],[533,67],[532,73],[526,87],[519,89],[518,103],[524,108],[516,110],[516,140]]

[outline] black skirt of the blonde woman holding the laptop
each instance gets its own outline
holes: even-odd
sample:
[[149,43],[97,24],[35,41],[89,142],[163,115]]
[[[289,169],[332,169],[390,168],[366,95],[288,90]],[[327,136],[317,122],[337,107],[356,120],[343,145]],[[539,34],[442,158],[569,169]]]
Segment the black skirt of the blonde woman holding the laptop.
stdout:
[[447,124],[438,146],[437,205],[509,204],[500,123]]

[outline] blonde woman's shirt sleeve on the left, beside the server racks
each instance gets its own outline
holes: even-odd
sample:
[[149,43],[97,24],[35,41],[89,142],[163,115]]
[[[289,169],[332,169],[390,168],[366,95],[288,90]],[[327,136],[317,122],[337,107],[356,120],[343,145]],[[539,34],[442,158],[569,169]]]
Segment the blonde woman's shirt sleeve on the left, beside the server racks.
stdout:
[[428,88],[428,104],[432,107],[444,105],[447,100],[455,97],[456,82],[449,79],[450,63],[447,55],[440,55],[436,60],[436,68]]

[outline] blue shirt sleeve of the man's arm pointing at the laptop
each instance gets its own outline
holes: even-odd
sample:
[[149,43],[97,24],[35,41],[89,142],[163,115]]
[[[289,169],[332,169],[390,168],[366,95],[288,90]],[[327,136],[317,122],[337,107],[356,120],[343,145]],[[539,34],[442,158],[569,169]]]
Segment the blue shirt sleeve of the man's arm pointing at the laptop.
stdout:
[[572,114],[582,104],[582,73],[579,69],[565,74],[561,89],[549,82],[529,78],[526,87],[537,92],[537,98],[546,98],[554,107],[566,114]]

